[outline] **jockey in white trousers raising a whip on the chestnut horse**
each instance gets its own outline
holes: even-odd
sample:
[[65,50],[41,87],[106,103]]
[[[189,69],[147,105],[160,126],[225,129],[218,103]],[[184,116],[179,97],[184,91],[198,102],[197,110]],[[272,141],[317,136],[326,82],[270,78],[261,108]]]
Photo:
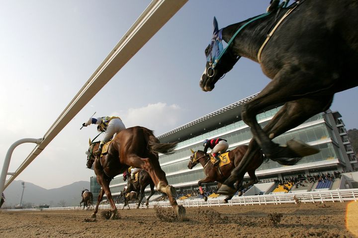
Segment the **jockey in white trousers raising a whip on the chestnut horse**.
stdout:
[[95,156],[101,154],[103,145],[106,144],[108,141],[112,140],[114,134],[118,134],[120,131],[126,129],[122,120],[119,117],[91,117],[87,122],[82,125],[86,127],[90,124],[97,124],[97,131],[105,132],[103,140],[99,143],[98,149],[93,152]]

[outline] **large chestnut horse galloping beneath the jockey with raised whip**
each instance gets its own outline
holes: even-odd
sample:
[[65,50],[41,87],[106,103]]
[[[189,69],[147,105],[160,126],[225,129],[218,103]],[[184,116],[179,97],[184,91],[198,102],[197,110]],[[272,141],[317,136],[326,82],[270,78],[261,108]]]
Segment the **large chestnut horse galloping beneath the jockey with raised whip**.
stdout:
[[111,205],[110,219],[114,219],[117,208],[109,189],[109,182],[114,176],[127,170],[129,166],[146,170],[151,176],[157,190],[168,195],[170,204],[178,217],[181,219],[185,218],[185,208],[182,205],[178,205],[175,199],[177,191],[172,185],[168,184],[166,173],[159,164],[158,155],[158,153],[172,153],[177,144],[177,142],[160,143],[152,130],[135,126],[119,132],[109,144],[107,152],[95,157],[93,151],[98,148],[99,142],[91,143],[89,140],[87,167],[91,168],[93,164],[97,182],[101,186],[96,208],[91,214],[91,218],[96,217],[99,203],[105,193]]

